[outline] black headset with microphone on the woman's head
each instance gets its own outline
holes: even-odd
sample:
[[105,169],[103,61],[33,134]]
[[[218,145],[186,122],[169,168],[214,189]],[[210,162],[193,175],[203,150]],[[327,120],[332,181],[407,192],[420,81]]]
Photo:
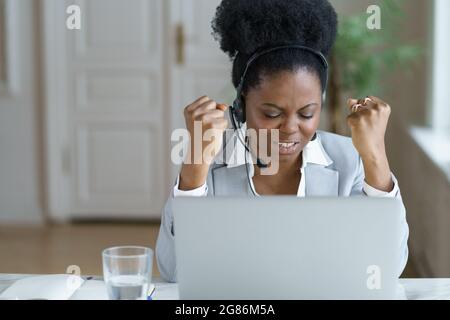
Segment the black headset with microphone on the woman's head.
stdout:
[[[320,60],[320,62],[322,63],[322,65],[324,67],[324,70],[325,70],[325,86],[324,86],[324,90],[322,93],[322,101],[325,101],[325,99],[326,99],[326,88],[328,85],[328,61],[327,61],[327,58],[321,52],[314,50],[310,47],[306,47],[303,45],[295,45],[295,44],[294,45],[281,45],[281,46],[264,49],[262,51],[257,51],[247,61],[244,72],[242,73],[241,79],[239,81],[239,85],[236,88],[236,99],[233,101],[233,105],[230,106],[230,108],[229,108],[230,119],[231,119],[231,123],[233,125],[233,129],[236,132],[239,141],[242,143],[242,145],[246,149],[245,155],[247,155],[247,152],[249,152],[251,154],[250,148],[247,145],[247,139],[245,139],[245,142],[244,142],[244,139],[242,139],[242,137],[240,135],[242,124],[246,122],[245,103],[242,99],[242,89],[244,87],[245,78],[247,76],[250,66],[255,62],[255,60],[257,60],[258,58],[260,58],[264,55],[272,53],[274,51],[280,51],[280,50],[284,50],[284,49],[299,49],[299,50],[303,50],[306,52],[310,52]],[[316,135],[314,135],[314,137],[315,136]],[[265,164],[258,157],[256,157],[256,165],[259,168],[267,168],[268,167],[268,164]],[[246,164],[246,167],[247,167],[247,164]],[[247,169],[247,178],[249,178],[248,168],[246,168],[246,169]],[[249,183],[250,183],[250,179],[249,179]],[[253,191],[253,193],[255,193],[253,189],[252,189],[252,191]]]

